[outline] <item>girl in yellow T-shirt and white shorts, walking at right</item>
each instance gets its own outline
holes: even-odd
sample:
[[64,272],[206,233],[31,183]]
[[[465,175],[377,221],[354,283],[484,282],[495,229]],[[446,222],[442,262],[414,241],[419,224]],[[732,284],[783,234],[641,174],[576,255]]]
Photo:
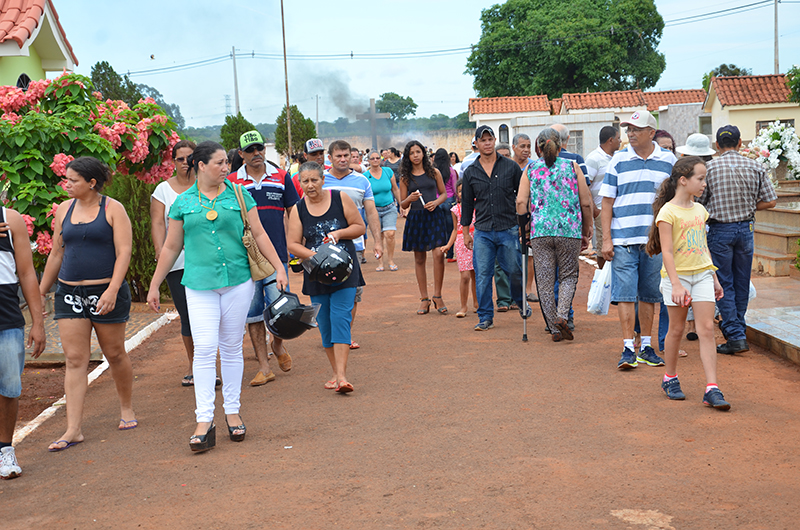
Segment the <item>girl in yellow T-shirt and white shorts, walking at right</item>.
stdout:
[[706,242],[708,212],[694,202],[706,187],[706,166],[697,156],[681,158],[672,168],[653,203],[653,227],[647,242],[647,253],[661,253],[661,292],[669,311],[664,361],[666,374],[661,388],[669,399],[685,399],[678,382],[678,347],[691,305],[700,359],[706,374],[703,403],[718,410],[728,410],[717,386],[717,352],[714,343],[714,303],[723,296]]

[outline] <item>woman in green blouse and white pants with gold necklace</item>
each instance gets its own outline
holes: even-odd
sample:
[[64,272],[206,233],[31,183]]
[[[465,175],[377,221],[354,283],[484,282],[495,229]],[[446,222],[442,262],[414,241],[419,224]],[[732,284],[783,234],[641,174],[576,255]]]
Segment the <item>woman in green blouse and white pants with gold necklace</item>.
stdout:
[[[242,441],[245,426],[239,416],[242,389],[242,338],[253,280],[247,250],[242,244],[241,208],[227,180],[228,157],[216,142],[202,142],[189,161],[197,180],[178,196],[169,211],[167,240],[161,250],[156,272],[150,282],[147,302],[158,311],[158,289],[181,249],[185,269],[181,283],[186,287],[189,320],[194,338],[194,392],[197,428],[189,439],[192,451],[214,446],[214,384],[219,349],[225,422],[233,441]],[[277,271],[278,288],[288,284],[283,264],[264,231],[255,200],[243,194],[247,217],[261,253]]]

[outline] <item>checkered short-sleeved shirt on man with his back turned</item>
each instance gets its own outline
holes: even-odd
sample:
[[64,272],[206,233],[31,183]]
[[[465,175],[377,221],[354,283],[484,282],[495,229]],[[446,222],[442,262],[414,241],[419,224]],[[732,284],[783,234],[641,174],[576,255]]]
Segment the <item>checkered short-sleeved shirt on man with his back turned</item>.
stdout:
[[708,184],[698,202],[708,210],[709,220],[751,221],[757,203],[778,199],[764,166],[736,151],[725,151],[707,167]]

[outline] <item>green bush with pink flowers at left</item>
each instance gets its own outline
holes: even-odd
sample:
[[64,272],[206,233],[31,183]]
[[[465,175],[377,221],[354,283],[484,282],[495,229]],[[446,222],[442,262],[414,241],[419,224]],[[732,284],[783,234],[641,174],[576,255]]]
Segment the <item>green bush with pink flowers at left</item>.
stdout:
[[103,100],[78,74],[32,81],[27,91],[0,86],[0,191],[30,219],[37,269],[52,247],[53,206],[67,197],[62,179],[69,161],[93,156],[153,184],[172,176],[172,147],[179,140],[175,124],[152,98],[133,108]]

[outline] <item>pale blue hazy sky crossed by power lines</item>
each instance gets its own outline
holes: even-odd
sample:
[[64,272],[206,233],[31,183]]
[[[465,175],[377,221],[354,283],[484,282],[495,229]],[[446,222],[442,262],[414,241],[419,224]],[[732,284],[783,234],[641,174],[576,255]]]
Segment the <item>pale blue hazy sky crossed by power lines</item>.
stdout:
[[[657,0],[656,6],[669,23],[756,1]],[[229,56],[235,46],[242,114],[253,123],[274,123],[286,102],[283,60],[253,58],[254,53],[282,54],[279,0],[53,3],[80,61],[78,73],[88,76],[92,65],[108,61],[117,72],[131,72],[134,82],[153,86],[167,102],[179,104],[187,125],[223,123],[226,95],[235,109],[232,61],[158,74],[135,72]],[[485,0],[285,0],[290,55],[373,54],[369,59],[290,59],[292,104],[314,119],[319,96],[320,120],[347,116],[352,121],[366,110],[369,98],[396,92],[414,99],[417,116],[466,111],[468,99],[475,97],[472,77],[464,73],[468,51],[413,59],[386,55],[476,44],[481,9],[487,5]],[[785,72],[800,63],[800,1],[784,0],[778,9]],[[667,68],[656,90],[699,88],[703,74],[720,63],[752,68],[754,74],[773,73],[771,2],[711,21],[673,24],[665,28],[659,46]]]

